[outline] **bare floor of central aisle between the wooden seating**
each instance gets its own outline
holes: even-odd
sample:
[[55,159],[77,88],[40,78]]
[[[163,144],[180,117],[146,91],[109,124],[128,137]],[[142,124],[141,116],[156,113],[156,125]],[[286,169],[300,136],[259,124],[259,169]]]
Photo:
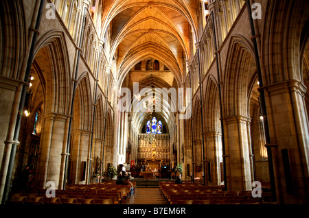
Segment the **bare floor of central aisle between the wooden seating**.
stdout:
[[128,197],[126,204],[167,204],[159,187],[136,187],[133,196]]

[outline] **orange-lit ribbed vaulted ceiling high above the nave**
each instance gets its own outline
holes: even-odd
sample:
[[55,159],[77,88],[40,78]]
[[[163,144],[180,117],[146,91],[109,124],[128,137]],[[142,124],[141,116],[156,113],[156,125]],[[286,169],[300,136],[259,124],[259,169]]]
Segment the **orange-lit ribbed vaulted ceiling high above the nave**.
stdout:
[[[111,25],[111,58],[117,56],[117,79],[141,60],[155,58],[181,84],[190,35],[196,37],[198,0],[104,1],[103,31]],[[110,60],[111,61],[111,60]]]

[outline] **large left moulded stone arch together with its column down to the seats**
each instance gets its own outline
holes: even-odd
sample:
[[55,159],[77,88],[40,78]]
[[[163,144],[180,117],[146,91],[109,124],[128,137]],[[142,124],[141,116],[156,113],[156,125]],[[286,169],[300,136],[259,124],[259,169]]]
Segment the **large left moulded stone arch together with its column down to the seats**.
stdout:
[[71,76],[63,32],[54,30],[41,36],[34,49],[33,70],[38,75],[43,95],[36,188],[43,188],[48,180],[55,181],[58,187],[62,181],[56,165],[60,165],[62,149],[66,145],[66,132],[60,130],[66,129],[71,106]]

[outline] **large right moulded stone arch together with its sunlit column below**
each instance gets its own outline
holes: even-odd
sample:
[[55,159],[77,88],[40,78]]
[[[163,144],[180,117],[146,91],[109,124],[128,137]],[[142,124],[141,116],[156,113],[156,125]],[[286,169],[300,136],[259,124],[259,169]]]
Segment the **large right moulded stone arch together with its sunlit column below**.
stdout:
[[232,36],[227,53],[222,90],[225,125],[227,189],[251,189],[252,160],[248,99],[256,64],[251,44]]

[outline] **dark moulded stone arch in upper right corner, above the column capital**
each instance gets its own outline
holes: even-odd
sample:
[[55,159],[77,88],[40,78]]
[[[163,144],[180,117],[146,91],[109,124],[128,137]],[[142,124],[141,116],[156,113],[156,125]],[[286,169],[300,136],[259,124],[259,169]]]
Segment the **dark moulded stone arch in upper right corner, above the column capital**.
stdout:
[[[299,40],[304,29],[307,1],[268,1],[261,35],[263,83],[301,80]],[[293,19],[292,19],[293,18]],[[273,25],[276,23],[276,25]]]

